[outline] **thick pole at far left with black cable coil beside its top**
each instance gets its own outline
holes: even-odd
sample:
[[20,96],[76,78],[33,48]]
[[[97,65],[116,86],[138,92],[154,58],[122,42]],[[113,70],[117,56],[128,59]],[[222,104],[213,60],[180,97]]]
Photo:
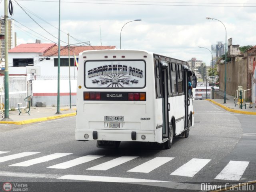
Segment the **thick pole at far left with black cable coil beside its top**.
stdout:
[[4,0],[4,118],[2,121],[11,121],[9,118],[9,70],[8,70],[8,3]]

